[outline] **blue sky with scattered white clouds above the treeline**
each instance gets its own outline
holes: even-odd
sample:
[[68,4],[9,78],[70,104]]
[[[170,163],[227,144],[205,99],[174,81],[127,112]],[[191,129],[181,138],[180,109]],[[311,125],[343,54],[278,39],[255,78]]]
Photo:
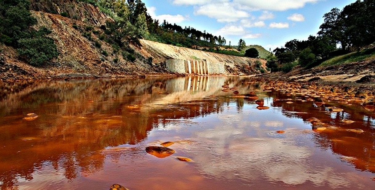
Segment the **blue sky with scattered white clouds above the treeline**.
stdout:
[[148,13],[161,23],[166,19],[224,36],[231,45],[240,38],[247,45],[267,50],[293,39],[316,35],[323,15],[355,0],[143,0]]

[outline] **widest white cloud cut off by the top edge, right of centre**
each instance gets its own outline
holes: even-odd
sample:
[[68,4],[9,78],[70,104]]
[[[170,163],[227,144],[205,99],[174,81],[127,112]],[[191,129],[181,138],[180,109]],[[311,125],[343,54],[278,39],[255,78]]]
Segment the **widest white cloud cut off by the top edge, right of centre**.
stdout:
[[261,10],[289,10],[298,9],[306,3],[315,3],[318,0],[233,0],[234,3],[248,9]]

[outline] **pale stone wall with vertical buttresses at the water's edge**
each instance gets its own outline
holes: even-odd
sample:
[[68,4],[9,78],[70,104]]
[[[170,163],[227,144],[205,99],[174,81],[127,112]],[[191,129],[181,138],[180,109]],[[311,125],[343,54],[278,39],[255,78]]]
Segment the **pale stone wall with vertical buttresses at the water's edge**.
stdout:
[[207,60],[166,60],[166,69],[173,73],[189,75],[217,75],[225,73],[223,63],[210,63]]

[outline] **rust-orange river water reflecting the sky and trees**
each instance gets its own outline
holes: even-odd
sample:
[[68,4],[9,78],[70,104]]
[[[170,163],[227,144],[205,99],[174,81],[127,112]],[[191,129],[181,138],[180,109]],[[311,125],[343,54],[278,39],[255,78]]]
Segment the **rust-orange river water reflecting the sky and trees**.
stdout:
[[[37,81],[0,92],[0,186],[7,189],[374,189],[374,113],[264,92],[247,78]],[[256,91],[269,109],[239,95]],[[22,118],[28,113],[38,117]],[[312,131],[307,118],[331,127]],[[356,121],[342,123],[347,118]],[[347,129],[362,129],[355,133]],[[281,133],[278,131],[285,131]],[[172,141],[159,158],[147,146]],[[163,157],[163,156],[162,156]],[[181,162],[175,157],[188,157]]]

